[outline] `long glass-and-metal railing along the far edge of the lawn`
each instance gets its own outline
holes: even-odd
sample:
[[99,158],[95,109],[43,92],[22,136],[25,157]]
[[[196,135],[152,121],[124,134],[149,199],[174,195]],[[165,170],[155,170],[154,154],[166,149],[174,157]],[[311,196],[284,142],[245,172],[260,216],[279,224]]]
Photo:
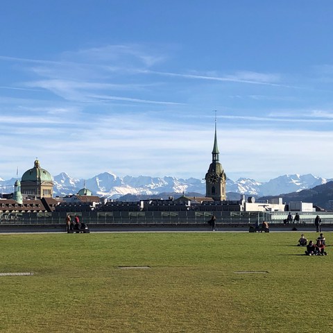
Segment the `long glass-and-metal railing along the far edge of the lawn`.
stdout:
[[[87,224],[126,224],[126,223],[206,223],[213,212],[40,212],[40,213],[0,213],[0,224],[65,224],[67,214],[78,215]],[[314,224],[316,212],[299,212],[300,223]],[[216,223],[255,224],[267,221],[269,224],[284,223],[286,212],[214,212]],[[333,212],[321,212],[323,224],[333,224]]]

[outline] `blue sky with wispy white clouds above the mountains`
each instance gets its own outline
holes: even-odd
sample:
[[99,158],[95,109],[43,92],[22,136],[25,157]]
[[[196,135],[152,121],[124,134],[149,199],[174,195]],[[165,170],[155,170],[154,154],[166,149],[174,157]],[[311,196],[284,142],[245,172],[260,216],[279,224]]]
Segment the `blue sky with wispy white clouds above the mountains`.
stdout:
[[0,178],[333,178],[333,2],[1,1]]

